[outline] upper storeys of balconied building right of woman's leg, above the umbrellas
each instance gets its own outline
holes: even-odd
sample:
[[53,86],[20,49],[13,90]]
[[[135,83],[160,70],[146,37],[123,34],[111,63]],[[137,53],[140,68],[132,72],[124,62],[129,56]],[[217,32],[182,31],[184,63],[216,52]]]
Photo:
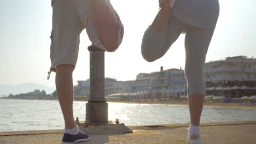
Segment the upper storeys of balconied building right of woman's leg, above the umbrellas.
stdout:
[[227,57],[225,60],[205,64],[205,82],[218,83],[216,86],[228,82],[246,82],[249,86],[255,86],[255,81],[256,59],[254,58]]

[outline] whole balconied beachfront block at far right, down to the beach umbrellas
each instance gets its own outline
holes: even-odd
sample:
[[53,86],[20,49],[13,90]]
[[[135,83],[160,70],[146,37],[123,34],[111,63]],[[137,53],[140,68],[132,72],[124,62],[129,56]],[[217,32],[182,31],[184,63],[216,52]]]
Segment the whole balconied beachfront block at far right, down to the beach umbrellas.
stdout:
[[205,64],[207,95],[243,97],[256,94],[256,59],[227,57]]

